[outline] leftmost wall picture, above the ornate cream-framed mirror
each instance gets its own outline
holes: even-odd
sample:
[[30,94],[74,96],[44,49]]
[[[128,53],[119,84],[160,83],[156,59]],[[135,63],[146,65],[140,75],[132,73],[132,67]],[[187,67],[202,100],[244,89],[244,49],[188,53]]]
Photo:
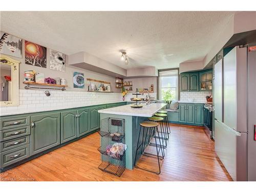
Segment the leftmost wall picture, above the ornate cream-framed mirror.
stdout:
[[0,53],[22,58],[22,42],[21,38],[0,32]]

